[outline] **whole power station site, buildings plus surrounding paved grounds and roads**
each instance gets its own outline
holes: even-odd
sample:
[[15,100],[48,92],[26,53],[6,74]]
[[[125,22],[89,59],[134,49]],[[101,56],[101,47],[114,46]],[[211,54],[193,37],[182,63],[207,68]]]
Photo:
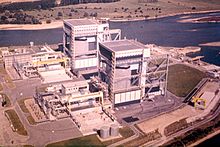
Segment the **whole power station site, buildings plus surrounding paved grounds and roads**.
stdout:
[[[3,145],[45,146],[92,134],[100,142],[112,140],[110,146],[126,146],[132,140],[138,146],[162,145],[169,134],[201,123],[219,110],[220,67],[202,62],[202,57],[186,56],[200,48],[122,39],[121,30],[110,29],[105,19],[64,20],[62,45],[54,48],[31,42],[28,47],[1,49],[1,69],[10,77],[0,79],[1,91],[9,96],[10,108],[29,136],[19,139],[16,129],[11,133],[4,128],[1,134],[10,139],[0,136]],[[180,73],[169,72],[174,68]],[[184,74],[192,74],[197,81],[190,85],[190,77],[175,77]],[[181,78],[185,78],[183,85],[178,83]],[[173,86],[172,82],[177,83]],[[185,93],[177,87],[185,88]],[[0,100],[4,112],[4,98]],[[182,126],[170,129],[179,121],[184,121],[183,130]],[[125,126],[133,136],[120,134]],[[159,134],[157,142],[138,140],[152,132]]]

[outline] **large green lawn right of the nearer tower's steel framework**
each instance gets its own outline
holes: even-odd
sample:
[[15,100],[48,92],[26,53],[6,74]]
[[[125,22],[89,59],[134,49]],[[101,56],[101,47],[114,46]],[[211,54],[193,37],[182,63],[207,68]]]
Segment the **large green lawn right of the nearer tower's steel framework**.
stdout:
[[169,67],[168,90],[179,97],[185,97],[205,74],[195,68],[176,64]]

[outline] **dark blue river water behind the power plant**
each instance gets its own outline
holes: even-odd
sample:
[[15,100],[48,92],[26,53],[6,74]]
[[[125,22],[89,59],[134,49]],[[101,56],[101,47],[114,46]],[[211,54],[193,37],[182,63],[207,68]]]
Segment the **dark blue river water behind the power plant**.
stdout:
[[[220,41],[220,23],[180,23],[179,20],[220,16],[220,12],[206,14],[178,15],[157,20],[111,22],[110,28],[122,30],[122,36],[137,39],[147,44],[160,46],[198,46],[201,43]],[[0,30],[0,46],[56,44],[62,42],[62,28],[48,30]],[[202,60],[220,65],[220,47],[202,47],[201,52],[193,54],[203,55]]]

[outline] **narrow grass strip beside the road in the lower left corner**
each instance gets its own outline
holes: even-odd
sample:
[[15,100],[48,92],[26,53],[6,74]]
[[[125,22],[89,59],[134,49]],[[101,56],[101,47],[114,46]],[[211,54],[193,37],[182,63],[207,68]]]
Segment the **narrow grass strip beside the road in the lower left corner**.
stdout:
[[27,136],[27,131],[20,121],[17,113],[13,109],[6,110],[5,113],[8,115],[14,129],[17,130],[16,132],[20,135]]

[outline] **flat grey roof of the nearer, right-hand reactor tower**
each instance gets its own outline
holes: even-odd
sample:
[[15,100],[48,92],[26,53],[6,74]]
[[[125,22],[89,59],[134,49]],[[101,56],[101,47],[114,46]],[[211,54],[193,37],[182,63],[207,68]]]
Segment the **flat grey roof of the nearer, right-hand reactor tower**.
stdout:
[[101,44],[113,52],[146,48],[144,44],[138,41],[127,39],[103,42]]

